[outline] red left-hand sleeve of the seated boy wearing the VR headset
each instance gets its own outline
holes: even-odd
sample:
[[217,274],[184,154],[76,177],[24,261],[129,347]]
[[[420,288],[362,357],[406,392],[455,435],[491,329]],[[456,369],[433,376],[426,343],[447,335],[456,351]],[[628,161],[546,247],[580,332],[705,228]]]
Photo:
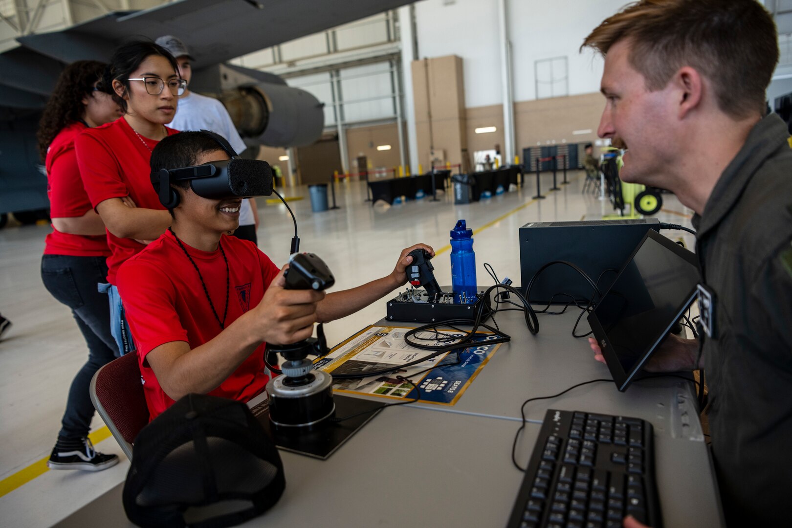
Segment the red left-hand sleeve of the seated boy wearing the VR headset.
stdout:
[[130,259],[121,265],[116,280],[141,357],[161,344],[189,342],[176,310],[176,288],[161,269]]

